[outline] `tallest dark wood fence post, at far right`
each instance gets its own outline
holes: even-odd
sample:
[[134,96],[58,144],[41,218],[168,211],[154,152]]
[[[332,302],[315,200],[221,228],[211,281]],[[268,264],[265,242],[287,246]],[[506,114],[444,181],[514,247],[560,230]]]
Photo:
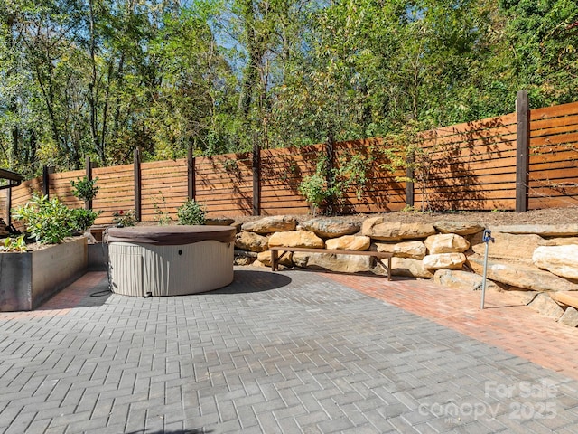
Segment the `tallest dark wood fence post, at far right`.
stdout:
[[517,92],[516,99],[516,212],[528,207],[528,149],[530,146],[530,108],[527,90]]

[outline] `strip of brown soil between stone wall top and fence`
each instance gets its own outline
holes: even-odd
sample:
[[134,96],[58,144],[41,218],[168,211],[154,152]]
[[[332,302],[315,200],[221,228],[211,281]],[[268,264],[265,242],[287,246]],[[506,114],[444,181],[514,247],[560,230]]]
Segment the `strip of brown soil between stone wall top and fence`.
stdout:
[[[350,222],[361,222],[368,217],[383,216],[387,222],[481,222],[486,226],[510,224],[568,224],[578,223],[578,207],[549,208],[527,212],[385,212],[336,216]],[[260,217],[236,217],[236,222],[254,222]],[[305,222],[312,215],[293,215],[297,222]]]

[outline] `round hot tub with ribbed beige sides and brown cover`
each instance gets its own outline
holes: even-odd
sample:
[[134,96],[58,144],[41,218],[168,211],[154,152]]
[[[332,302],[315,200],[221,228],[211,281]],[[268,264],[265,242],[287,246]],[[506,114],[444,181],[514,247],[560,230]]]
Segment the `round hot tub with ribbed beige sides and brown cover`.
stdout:
[[235,233],[231,226],[110,228],[112,291],[160,297],[226,287],[233,281]]

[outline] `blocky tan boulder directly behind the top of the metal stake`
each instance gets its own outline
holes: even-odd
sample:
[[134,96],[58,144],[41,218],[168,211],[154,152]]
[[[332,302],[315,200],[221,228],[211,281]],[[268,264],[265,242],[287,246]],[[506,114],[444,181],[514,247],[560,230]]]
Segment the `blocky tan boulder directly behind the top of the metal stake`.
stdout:
[[[488,256],[497,259],[532,259],[532,252],[538,247],[542,237],[538,235],[512,235],[507,232],[494,232],[491,236],[494,242],[489,242]],[[481,235],[471,239],[471,250],[484,255],[486,243],[481,241]]]

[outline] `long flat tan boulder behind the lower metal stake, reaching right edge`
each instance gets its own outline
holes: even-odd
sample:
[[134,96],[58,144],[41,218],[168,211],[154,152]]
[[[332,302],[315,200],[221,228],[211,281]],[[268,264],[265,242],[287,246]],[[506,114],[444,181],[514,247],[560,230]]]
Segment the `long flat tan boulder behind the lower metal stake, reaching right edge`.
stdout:
[[[482,274],[483,260],[479,255],[471,255],[468,258],[468,265],[476,273]],[[558,278],[554,274],[538,269],[533,265],[514,261],[489,260],[488,278],[513,287],[540,292],[578,290],[578,285],[564,278]]]

